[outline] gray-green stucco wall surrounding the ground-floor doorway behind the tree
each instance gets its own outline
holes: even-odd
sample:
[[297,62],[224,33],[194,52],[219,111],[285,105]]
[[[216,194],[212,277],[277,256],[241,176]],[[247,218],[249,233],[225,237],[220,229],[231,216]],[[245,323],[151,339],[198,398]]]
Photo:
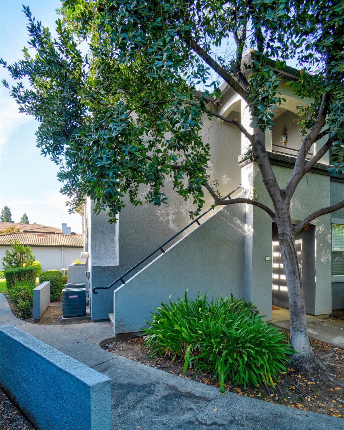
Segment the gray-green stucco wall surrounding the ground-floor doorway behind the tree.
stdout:
[[[292,170],[285,167],[273,166],[273,172],[280,187],[285,187],[290,178]],[[258,166],[254,165],[254,185],[257,188],[257,194],[261,203],[267,204],[272,208],[272,203],[264,187]],[[327,175],[319,175],[308,172],[301,179],[295,194],[290,203],[291,217],[294,220],[301,221],[311,212],[330,205],[330,180]],[[271,220],[265,219],[265,215],[258,214],[260,209],[255,208],[257,214],[253,225],[253,238],[257,241],[258,246],[253,249],[253,261],[258,263],[256,270],[252,270],[252,278],[256,279],[256,273],[259,273],[260,262],[264,260],[267,249],[270,248],[271,254]],[[262,212],[262,211],[260,211]],[[265,218],[264,218],[265,217]],[[331,215],[323,215],[316,218],[312,224],[316,226],[316,292],[313,298],[314,313],[316,315],[331,312]],[[271,270],[271,269],[270,269]],[[266,272],[268,273],[268,271]],[[271,286],[270,276],[266,277],[266,283]]]

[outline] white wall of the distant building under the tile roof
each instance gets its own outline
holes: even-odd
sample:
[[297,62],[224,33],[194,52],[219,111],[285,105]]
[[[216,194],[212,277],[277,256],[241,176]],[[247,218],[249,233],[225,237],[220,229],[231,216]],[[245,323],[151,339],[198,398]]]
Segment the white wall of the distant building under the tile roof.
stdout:
[[[2,267],[2,259],[6,250],[11,250],[11,246],[0,246],[0,264]],[[63,249],[58,246],[31,246],[32,254],[36,260],[42,265],[42,270],[56,269],[61,270],[67,268],[69,264],[75,259],[80,258],[80,247],[66,247]]]

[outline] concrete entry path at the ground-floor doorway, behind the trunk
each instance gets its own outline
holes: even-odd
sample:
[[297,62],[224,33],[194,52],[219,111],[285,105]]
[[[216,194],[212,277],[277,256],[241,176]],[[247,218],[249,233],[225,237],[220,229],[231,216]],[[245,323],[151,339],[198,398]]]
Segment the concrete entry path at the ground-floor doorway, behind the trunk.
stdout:
[[[273,310],[271,322],[280,329],[289,330],[289,309],[281,307]],[[344,326],[342,324],[307,314],[307,330],[310,338],[344,349]]]

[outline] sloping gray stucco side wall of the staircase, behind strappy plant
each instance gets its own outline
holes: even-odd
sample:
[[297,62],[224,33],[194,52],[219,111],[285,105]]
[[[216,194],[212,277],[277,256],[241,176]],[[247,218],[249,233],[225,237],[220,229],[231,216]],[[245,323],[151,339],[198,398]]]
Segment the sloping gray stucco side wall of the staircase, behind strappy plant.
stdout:
[[[245,205],[226,206],[114,292],[116,333],[140,331],[150,311],[197,292],[243,297]],[[263,309],[265,311],[265,309]]]

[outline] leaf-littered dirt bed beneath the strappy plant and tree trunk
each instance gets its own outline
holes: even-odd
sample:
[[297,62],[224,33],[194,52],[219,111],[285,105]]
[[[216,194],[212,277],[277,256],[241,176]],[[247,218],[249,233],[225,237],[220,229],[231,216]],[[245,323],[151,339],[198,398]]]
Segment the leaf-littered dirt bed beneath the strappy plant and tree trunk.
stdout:
[[[315,340],[311,340],[311,346],[317,356],[326,356],[323,359],[329,364],[335,380],[343,384],[344,350]],[[150,350],[145,347],[143,338],[119,340],[106,344],[103,348],[173,375],[215,387],[220,385],[211,374],[201,375],[200,372],[197,372],[195,375],[194,371],[189,369],[183,375],[184,361],[172,362],[169,356],[154,355],[150,357]],[[307,380],[305,374],[295,372],[292,368],[288,369],[284,375],[279,374],[278,382],[274,387],[265,387],[264,384],[261,384],[259,387],[246,387],[245,389],[242,385],[235,387],[231,381],[227,381],[227,385],[225,384],[224,387],[225,390],[237,393],[238,396],[255,397],[265,402],[279,403],[303,411],[313,411],[341,418],[344,416],[344,387],[341,387],[340,384],[323,381],[317,375],[313,375],[312,380]]]

